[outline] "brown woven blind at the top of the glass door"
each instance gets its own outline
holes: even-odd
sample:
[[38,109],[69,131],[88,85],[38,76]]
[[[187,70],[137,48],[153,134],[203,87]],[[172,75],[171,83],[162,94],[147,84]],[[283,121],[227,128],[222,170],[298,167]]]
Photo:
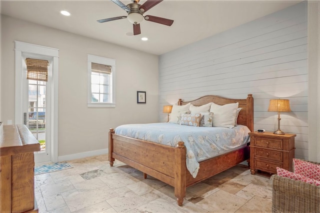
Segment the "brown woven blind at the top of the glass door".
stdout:
[[47,60],[26,58],[26,79],[48,81],[48,65]]

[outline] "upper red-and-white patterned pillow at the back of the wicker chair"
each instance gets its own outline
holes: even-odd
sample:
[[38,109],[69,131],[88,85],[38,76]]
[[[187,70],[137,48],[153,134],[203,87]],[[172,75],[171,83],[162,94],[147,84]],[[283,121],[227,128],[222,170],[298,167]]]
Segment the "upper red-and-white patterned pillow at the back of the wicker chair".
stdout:
[[320,181],[320,164],[293,158],[293,168],[296,174]]

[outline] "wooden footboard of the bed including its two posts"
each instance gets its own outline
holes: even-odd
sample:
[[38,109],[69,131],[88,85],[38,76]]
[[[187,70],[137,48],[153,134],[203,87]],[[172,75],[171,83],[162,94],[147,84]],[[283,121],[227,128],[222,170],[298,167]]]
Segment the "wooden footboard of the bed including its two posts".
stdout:
[[186,150],[184,142],[176,147],[117,135],[109,131],[109,163],[118,159],[174,187],[178,205],[182,205],[186,188]]

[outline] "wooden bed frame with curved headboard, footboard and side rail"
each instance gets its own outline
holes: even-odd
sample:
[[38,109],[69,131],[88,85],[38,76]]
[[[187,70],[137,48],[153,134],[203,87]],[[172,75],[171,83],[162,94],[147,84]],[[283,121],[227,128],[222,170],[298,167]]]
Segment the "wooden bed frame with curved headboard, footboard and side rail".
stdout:
[[[248,94],[246,99],[230,99],[215,95],[205,95],[196,100],[178,100],[178,105],[191,103],[195,106],[214,102],[216,104],[239,103],[237,123],[246,125],[253,131],[253,97]],[[149,174],[174,187],[174,195],[178,205],[182,205],[186,187],[224,171],[249,158],[249,146],[224,153],[222,155],[199,162],[200,168],[195,178],[186,169],[186,150],[184,142],[176,147],[162,145],[146,140],[135,139],[109,131],[109,163],[113,166],[114,159],[120,160],[143,172],[144,178]]]

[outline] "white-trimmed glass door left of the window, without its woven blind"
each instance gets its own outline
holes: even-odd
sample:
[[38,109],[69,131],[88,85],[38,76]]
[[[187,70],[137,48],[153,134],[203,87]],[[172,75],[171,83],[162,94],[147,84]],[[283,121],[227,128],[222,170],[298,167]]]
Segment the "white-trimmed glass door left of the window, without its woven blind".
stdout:
[[[15,41],[15,124],[40,142],[35,163],[57,162],[58,49]],[[27,79],[25,58],[48,61],[47,81]]]

